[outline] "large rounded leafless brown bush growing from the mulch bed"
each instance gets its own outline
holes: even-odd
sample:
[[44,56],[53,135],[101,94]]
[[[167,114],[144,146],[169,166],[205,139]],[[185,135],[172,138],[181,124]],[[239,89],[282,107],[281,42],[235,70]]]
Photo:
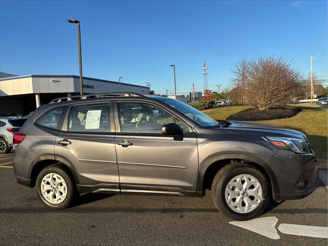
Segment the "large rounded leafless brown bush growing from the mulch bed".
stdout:
[[301,90],[302,74],[292,68],[282,57],[260,57],[239,63],[235,70],[235,80],[244,76],[243,84],[247,103],[259,110],[290,103]]

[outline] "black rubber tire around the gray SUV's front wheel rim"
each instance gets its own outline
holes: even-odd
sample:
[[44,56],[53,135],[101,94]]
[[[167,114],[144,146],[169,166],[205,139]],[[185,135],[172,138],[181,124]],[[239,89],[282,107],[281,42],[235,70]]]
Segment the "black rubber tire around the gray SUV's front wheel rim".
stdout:
[[[262,200],[258,207],[249,213],[233,211],[227,204],[225,191],[228,183],[237,175],[249,174],[255,177],[262,187]],[[224,215],[234,220],[249,220],[260,216],[268,207],[270,200],[270,184],[261,171],[246,163],[231,163],[222,168],[214,177],[212,183],[212,197],[216,208]]]

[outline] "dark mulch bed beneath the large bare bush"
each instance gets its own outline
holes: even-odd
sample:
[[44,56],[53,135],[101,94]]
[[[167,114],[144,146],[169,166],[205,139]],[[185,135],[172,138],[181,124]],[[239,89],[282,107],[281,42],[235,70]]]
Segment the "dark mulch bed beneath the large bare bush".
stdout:
[[295,116],[301,109],[293,106],[281,106],[269,109],[267,111],[260,111],[257,108],[240,111],[228,117],[228,120],[270,120],[270,119],[285,119]]

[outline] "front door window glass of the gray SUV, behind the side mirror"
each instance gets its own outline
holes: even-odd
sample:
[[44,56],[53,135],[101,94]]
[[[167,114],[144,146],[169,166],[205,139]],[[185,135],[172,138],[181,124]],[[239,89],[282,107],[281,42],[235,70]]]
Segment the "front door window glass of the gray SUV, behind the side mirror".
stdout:
[[146,103],[118,103],[118,115],[122,133],[162,133],[162,126],[175,123],[183,132],[189,127],[165,110]]

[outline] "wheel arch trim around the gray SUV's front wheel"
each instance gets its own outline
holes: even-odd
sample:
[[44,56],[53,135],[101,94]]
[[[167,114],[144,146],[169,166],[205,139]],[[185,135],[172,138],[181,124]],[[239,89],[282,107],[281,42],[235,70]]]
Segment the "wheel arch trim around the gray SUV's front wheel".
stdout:
[[221,154],[212,156],[201,164],[197,177],[197,196],[203,196],[205,189],[211,187],[216,173],[233,162],[245,162],[259,169],[269,179],[272,194],[279,192],[276,176],[265,161],[245,154]]

